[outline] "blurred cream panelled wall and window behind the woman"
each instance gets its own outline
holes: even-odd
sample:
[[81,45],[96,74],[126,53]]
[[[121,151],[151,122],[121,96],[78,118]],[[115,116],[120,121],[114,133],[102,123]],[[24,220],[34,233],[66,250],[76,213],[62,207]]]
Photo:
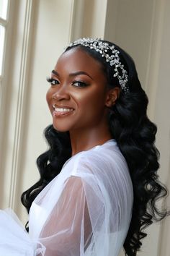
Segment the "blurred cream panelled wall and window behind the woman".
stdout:
[[[81,37],[110,40],[135,60],[158,126],[158,174],[170,189],[169,13],[169,0],[0,0],[0,208],[27,221],[20,195],[39,178],[36,158],[51,123],[45,79]],[[138,255],[169,256],[170,218],[147,231]]]

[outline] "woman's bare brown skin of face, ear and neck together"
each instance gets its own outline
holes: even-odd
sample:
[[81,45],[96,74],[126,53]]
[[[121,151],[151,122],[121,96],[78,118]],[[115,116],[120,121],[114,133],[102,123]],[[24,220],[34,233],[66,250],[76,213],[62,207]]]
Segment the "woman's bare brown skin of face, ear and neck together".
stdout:
[[55,85],[52,82],[46,98],[53,126],[70,132],[72,155],[112,139],[107,114],[120,88],[107,88],[99,61],[73,48],[58,59],[51,80]]

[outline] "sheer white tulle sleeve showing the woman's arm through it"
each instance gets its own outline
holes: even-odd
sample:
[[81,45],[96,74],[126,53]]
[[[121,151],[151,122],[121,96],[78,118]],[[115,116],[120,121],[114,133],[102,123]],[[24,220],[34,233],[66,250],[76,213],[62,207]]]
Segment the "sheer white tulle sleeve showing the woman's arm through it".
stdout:
[[80,249],[86,249],[91,239],[84,182],[71,176],[65,186],[40,233],[40,241],[46,247],[45,256],[80,255]]

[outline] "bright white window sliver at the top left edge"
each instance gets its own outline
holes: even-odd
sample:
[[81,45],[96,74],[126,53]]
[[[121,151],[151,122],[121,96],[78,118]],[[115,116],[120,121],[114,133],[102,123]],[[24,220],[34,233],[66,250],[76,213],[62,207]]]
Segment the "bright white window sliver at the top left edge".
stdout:
[[4,48],[6,41],[6,27],[7,27],[7,11],[8,11],[8,0],[0,1],[0,80],[3,75],[3,64],[4,64]]

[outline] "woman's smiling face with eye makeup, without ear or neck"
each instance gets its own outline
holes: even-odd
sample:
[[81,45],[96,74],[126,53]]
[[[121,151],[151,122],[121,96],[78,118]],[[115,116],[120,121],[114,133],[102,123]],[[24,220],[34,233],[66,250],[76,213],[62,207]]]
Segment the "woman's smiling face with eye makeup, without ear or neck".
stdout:
[[55,129],[97,129],[107,122],[107,79],[102,65],[85,51],[72,48],[62,54],[49,82],[47,102]]

